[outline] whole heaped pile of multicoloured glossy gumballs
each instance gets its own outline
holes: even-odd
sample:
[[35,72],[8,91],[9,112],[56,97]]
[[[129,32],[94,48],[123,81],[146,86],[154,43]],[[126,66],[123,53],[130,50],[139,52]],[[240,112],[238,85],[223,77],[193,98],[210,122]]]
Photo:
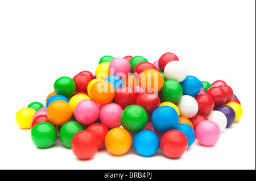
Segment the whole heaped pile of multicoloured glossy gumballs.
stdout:
[[16,113],[32,142],[49,148],[57,138],[80,159],[99,149],[114,155],[160,150],[178,158],[195,140],[213,146],[242,117],[240,100],[226,82],[200,81],[174,53],[154,63],[142,56],[104,56],[93,75],[60,77],[45,106],[33,102]]

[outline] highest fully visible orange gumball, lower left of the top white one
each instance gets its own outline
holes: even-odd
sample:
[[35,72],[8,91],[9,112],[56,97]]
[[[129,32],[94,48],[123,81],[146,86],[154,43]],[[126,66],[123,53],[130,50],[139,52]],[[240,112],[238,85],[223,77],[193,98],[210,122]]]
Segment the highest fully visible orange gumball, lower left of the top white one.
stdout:
[[158,92],[164,83],[163,76],[155,69],[147,69],[139,75],[139,86],[147,92]]

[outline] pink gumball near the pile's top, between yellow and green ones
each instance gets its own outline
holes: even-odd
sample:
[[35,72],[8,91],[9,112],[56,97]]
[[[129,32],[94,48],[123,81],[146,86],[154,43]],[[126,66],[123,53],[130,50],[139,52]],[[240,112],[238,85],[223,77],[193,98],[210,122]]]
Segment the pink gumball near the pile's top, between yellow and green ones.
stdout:
[[109,64],[109,74],[122,77],[130,73],[131,65],[125,58],[114,58]]

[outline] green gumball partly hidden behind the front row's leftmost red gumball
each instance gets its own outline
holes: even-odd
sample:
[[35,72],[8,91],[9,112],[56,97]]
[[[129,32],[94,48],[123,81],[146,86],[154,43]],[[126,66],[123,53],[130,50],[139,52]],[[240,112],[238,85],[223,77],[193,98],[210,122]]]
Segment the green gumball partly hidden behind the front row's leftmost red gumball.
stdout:
[[77,121],[68,121],[60,128],[60,141],[64,146],[71,148],[73,136],[80,131],[84,131],[84,127]]

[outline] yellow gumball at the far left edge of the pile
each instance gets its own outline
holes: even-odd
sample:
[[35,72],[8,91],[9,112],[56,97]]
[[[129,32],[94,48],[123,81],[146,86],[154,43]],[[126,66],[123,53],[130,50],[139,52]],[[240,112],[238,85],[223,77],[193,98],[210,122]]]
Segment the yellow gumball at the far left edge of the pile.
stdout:
[[16,113],[16,123],[20,128],[30,129],[32,124],[32,118],[36,113],[32,108],[22,108]]

